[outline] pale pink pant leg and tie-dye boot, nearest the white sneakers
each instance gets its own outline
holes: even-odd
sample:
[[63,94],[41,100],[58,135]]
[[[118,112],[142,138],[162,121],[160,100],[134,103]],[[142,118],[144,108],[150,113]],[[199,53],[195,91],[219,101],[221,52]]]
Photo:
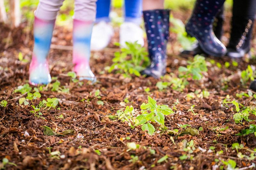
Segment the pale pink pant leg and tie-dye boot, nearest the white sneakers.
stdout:
[[96,15],[96,0],[75,0],[73,64],[79,79],[95,80],[90,69],[90,41]]

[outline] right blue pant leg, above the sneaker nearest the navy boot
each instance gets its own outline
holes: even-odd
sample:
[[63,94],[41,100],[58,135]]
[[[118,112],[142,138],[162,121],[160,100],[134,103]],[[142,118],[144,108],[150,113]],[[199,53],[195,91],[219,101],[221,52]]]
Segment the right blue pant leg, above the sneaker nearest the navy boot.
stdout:
[[125,0],[125,21],[141,24],[142,0]]

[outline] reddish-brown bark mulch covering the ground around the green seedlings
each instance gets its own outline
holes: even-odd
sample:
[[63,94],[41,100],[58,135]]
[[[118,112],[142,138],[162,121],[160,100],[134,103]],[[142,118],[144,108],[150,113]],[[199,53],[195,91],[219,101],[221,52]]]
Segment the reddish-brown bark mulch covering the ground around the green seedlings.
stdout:
[[[174,12],[174,16],[185,21],[189,14],[181,16],[180,12]],[[230,21],[229,13],[224,27],[227,37],[230,29],[228,21]],[[239,71],[246,69],[247,62],[239,61],[238,67],[231,64],[227,69],[224,63],[226,61],[231,63],[231,60],[215,59],[216,62],[222,64],[222,68],[208,62],[209,70],[204,74],[205,78],[201,81],[189,80],[189,85],[183,92],[177,92],[171,88],[159,91],[156,87],[159,80],[154,78],[132,77],[127,79],[122,78],[120,74],[102,73],[104,67],[112,63],[114,51],[119,50],[113,45],[113,42],[118,41],[118,33],[116,33],[109,48],[102,52],[92,53],[91,68],[98,82],[92,85],[83,81],[84,84],[79,86],[77,83],[70,82],[70,78],[65,76],[68,71],[72,70],[72,51],[51,49],[49,54],[51,76],[57,77],[62,86],[66,85],[70,93],[52,92],[51,90],[40,92],[42,95],[40,100],[49,97],[61,100],[58,105],[60,110],[51,109],[43,112],[44,120],[30,113],[30,107],[19,105],[19,99],[25,95],[14,93],[19,85],[28,83],[29,63],[18,60],[19,52],[29,61],[32,53],[33,37],[31,33],[27,34],[23,31],[24,26],[25,23],[11,30],[7,26],[0,25],[0,100],[8,102],[7,107],[0,107],[0,159],[5,157],[17,164],[17,167],[7,165],[7,169],[142,170],[173,167],[179,170],[193,170],[212,169],[214,165],[223,165],[221,162],[215,162],[215,159],[233,159],[238,167],[250,166],[252,162],[256,163],[255,160],[238,158],[236,150],[231,149],[231,145],[235,142],[243,144],[246,149],[254,149],[256,146],[254,136],[238,137],[235,134],[248,128],[249,124],[254,123],[256,117],[251,115],[250,118],[253,121],[244,122],[244,125],[235,124],[233,107],[226,108],[221,104],[222,100],[229,95],[230,99],[236,99],[245,106],[255,105],[256,100],[236,97],[236,93],[247,92],[248,84],[241,85],[239,78]],[[53,43],[71,45],[71,37],[70,30],[57,26]],[[178,75],[178,67],[185,66],[188,59],[178,55],[180,47],[176,35],[171,33],[170,37],[170,44],[173,46],[168,49],[167,71]],[[250,64],[255,64],[255,60],[251,60]],[[226,81],[227,78],[230,78],[230,81]],[[145,92],[147,87],[150,88],[150,92]],[[98,105],[98,99],[90,95],[90,92],[94,94],[98,89],[101,100],[104,102],[103,106]],[[186,98],[188,93],[196,90],[201,92],[203,89],[210,92],[208,98],[196,97],[192,100]],[[166,116],[165,125],[168,130],[182,131],[177,124],[189,124],[196,129],[202,127],[202,131],[199,131],[197,136],[174,136],[174,144],[170,138],[171,135],[167,132],[150,136],[139,126],[131,129],[127,122],[118,119],[111,120],[108,117],[108,115],[115,115],[117,110],[123,108],[120,102],[125,98],[129,100],[127,105],[138,109],[143,102],[147,102],[148,95],[159,104],[168,106],[172,106],[176,99],[180,102],[176,113]],[[85,100],[81,101],[83,99]],[[35,104],[38,103],[39,100],[36,100]],[[187,111],[192,105],[195,105],[194,111],[198,113],[197,115]],[[60,115],[63,118],[59,118]],[[74,134],[63,137],[46,136],[41,126],[48,126],[56,132],[73,129]],[[225,128],[226,126],[229,128],[221,132],[213,130],[213,127]],[[29,135],[25,135],[25,132]],[[84,138],[78,138],[78,134]],[[190,154],[194,158],[191,160],[179,159],[181,155],[187,153],[182,149],[184,139],[194,140],[195,150]],[[135,142],[140,147],[127,151],[128,142]],[[210,146],[215,147],[213,152],[208,152]],[[199,147],[207,151],[203,152]],[[62,156],[53,157],[49,153],[49,148],[51,152],[59,151]],[[150,152],[150,148],[155,150],[155,154]],[[250,155],[251,152],[246,149],[240,152]],[[99,150],[100,154],[95,150]],[[216,152],[220,150],[223,150],[223,154],[216,155]],[[132,155],[137,156],[138,159],[130,161]],[[169,158],[157,163],[165,155]]]

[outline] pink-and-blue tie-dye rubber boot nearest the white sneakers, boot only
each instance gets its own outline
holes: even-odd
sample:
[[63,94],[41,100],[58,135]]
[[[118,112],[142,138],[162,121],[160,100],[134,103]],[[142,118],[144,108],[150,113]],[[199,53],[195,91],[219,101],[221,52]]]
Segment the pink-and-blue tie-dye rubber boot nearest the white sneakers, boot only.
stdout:
[[79,80],[95,82],[96,78],[90,68],[90,42],[93,21],[73,21],[73,64]]

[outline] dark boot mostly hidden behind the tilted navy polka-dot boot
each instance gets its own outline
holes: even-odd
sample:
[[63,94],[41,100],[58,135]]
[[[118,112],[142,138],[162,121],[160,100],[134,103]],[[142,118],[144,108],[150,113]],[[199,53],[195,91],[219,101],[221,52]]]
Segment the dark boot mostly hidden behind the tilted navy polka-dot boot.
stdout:
[[[218,14],[213,23],[213,32],[215,36],[220,40],[223,30],[223,21],[224,21],[224,6],[219,10]],[[194,43],[190,49],[183,50],[181,54],[184,55],[198,55],[198,54],[205,54],[202,48],[199,46],[198,42]]]

